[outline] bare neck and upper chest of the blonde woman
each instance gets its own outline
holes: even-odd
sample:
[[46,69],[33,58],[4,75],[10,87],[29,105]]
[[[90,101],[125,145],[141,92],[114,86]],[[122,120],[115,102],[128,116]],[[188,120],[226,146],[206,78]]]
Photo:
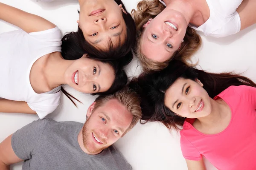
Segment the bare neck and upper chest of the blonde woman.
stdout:
[[[187,24],[189,25],[192,18],[196,15],[198,8],[195,6],[195,0],[168,0],[166,9],[179,11],[184,15]],[[196,0],[197,1],[197,0]]]

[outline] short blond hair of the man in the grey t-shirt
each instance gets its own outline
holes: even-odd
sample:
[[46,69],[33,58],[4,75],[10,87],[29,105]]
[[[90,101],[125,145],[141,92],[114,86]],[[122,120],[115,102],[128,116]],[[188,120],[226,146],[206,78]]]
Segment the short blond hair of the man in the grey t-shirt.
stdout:
[[137,124],[137,122],[141,119],[142,113],[140,108],[140,97],[137,93],[135,93],[134,91],[131,91],[131,89],[128,86],[126,86],[122,90],[119,90],[114,94],[99,96],[95,100],[96,104],[93,110],[95,110],[96,108],[99,108],[105,102],[108,102],[111,99],[116,99],[118,102],[124,105],[125,108],[133,116],[131,125],[128,127],[127,130],[125,130],[125,132],[122,135],[124,136],[125,133],[131,130]]

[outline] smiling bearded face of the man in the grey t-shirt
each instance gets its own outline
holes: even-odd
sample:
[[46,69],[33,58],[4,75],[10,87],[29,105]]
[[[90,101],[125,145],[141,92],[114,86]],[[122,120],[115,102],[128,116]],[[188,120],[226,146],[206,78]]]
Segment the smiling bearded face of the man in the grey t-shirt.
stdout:
[[132,114],[116,99],[87,111],[88,119],[83,127],[83,144],[90,154],[98,154],[115,143],[131,125]]

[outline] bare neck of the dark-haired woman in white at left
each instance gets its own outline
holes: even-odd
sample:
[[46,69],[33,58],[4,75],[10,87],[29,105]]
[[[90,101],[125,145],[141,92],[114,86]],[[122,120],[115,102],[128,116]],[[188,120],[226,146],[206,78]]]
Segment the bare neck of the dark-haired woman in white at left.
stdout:
[[51,89],[61,84],[66,84],[64,74],[68,66],[72,63],[73,60],[64,59],[59,52],[49,55],[44,68],[44,76]]

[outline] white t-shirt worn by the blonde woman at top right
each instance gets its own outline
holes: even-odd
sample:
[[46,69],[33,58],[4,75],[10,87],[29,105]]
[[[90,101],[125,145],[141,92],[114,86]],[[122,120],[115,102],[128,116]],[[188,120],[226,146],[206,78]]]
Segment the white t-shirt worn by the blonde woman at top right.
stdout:
[[[189,25],[197,31],[202,31],[206,36],[226,37],[240,31],[241,20],[236,9],[243,0],[206,0],[210,17],[201,26]],[[160,0],[164,5],[163,0]],[[165,5],[166,6],[166,5]]]

